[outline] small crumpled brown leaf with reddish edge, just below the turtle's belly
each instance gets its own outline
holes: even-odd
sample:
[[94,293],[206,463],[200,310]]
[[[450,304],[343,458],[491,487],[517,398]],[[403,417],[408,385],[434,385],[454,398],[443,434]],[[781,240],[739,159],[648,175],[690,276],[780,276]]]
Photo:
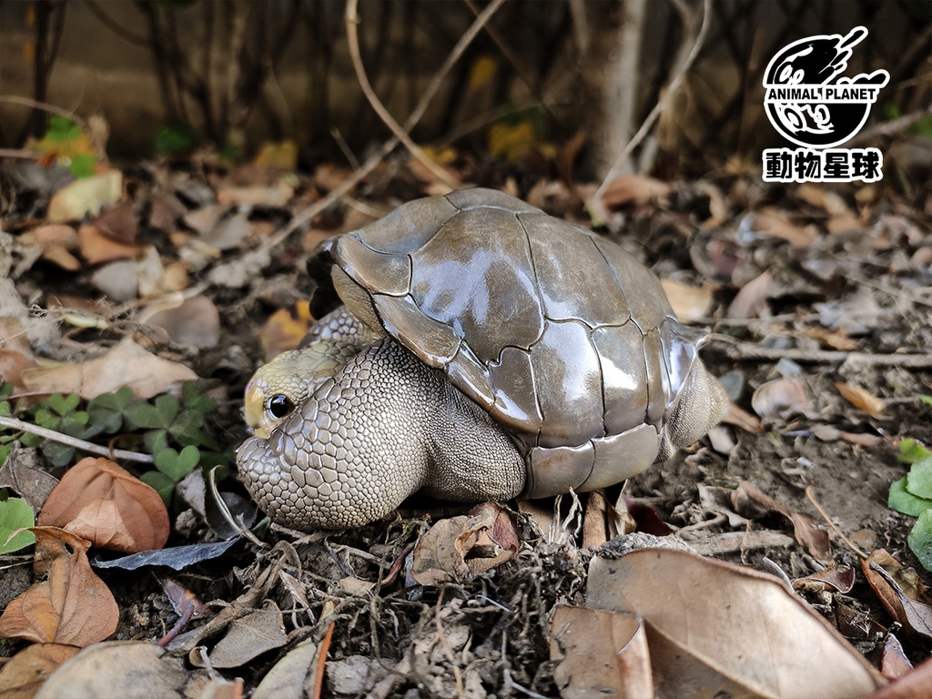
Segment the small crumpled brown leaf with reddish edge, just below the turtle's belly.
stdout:
[[411,553],[411,577],[422,585],[469,578],[504,563],[519,547],[512,514],[485,502],[427,530]]

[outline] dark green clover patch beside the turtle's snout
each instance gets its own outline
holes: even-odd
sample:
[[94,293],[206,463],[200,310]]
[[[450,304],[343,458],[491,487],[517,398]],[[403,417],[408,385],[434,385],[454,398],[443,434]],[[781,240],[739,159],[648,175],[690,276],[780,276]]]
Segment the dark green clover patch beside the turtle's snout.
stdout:
[[[0,417],[14,417],[9,397],[10,384],[0,384]],[[155,469],[142,479],[171,500],[175,485],[196,467],[210,468],[232,463],[232,447],[224,447],[205,430],[205,417],[215,405],[200,391],[197,381],[185,381],[181,397],[163,393],[148,400],[136,398],[129,388],[103,393],[87,404],[72,393],[56,393],[41,404],[22,411],[26,422],[60,432],[76,439],[106,445],[119,435],[119,445],[144,451],[155,460]],[[37,447],[56,466],[75,461],[74,445],[62,444],[27,430],[0,428],[0,465],[6,460],[12,443]]]

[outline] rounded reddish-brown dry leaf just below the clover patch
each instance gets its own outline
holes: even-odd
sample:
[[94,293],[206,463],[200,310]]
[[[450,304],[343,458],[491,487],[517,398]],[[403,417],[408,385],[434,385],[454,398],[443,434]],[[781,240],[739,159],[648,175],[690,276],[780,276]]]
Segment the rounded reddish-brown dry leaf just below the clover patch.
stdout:
[[116,461],[94,457],[62,476],[39,513],[39,525],[67,529],[98,548],[125,554],[160,549],[171,531],[155,488]]

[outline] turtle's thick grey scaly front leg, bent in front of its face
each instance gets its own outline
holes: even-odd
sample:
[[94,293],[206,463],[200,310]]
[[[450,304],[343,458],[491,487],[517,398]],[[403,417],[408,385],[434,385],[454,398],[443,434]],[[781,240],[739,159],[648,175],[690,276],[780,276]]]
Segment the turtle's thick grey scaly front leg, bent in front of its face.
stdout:
[[260,507],[288,527],[359,527],[424,489],[447,500],[514,497],[521,455],[499,425],[388,338],[325,379],[267,439],[237,453]]

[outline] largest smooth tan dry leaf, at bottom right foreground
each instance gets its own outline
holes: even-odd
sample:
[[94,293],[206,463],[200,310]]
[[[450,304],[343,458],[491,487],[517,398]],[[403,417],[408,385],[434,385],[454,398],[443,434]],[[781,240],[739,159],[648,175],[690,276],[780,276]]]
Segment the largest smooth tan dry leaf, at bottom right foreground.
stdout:
[[828,622],[753,569],[669,549],[594,558],[586,602],[644,618],[660,699],[849,699],[881,686]]

